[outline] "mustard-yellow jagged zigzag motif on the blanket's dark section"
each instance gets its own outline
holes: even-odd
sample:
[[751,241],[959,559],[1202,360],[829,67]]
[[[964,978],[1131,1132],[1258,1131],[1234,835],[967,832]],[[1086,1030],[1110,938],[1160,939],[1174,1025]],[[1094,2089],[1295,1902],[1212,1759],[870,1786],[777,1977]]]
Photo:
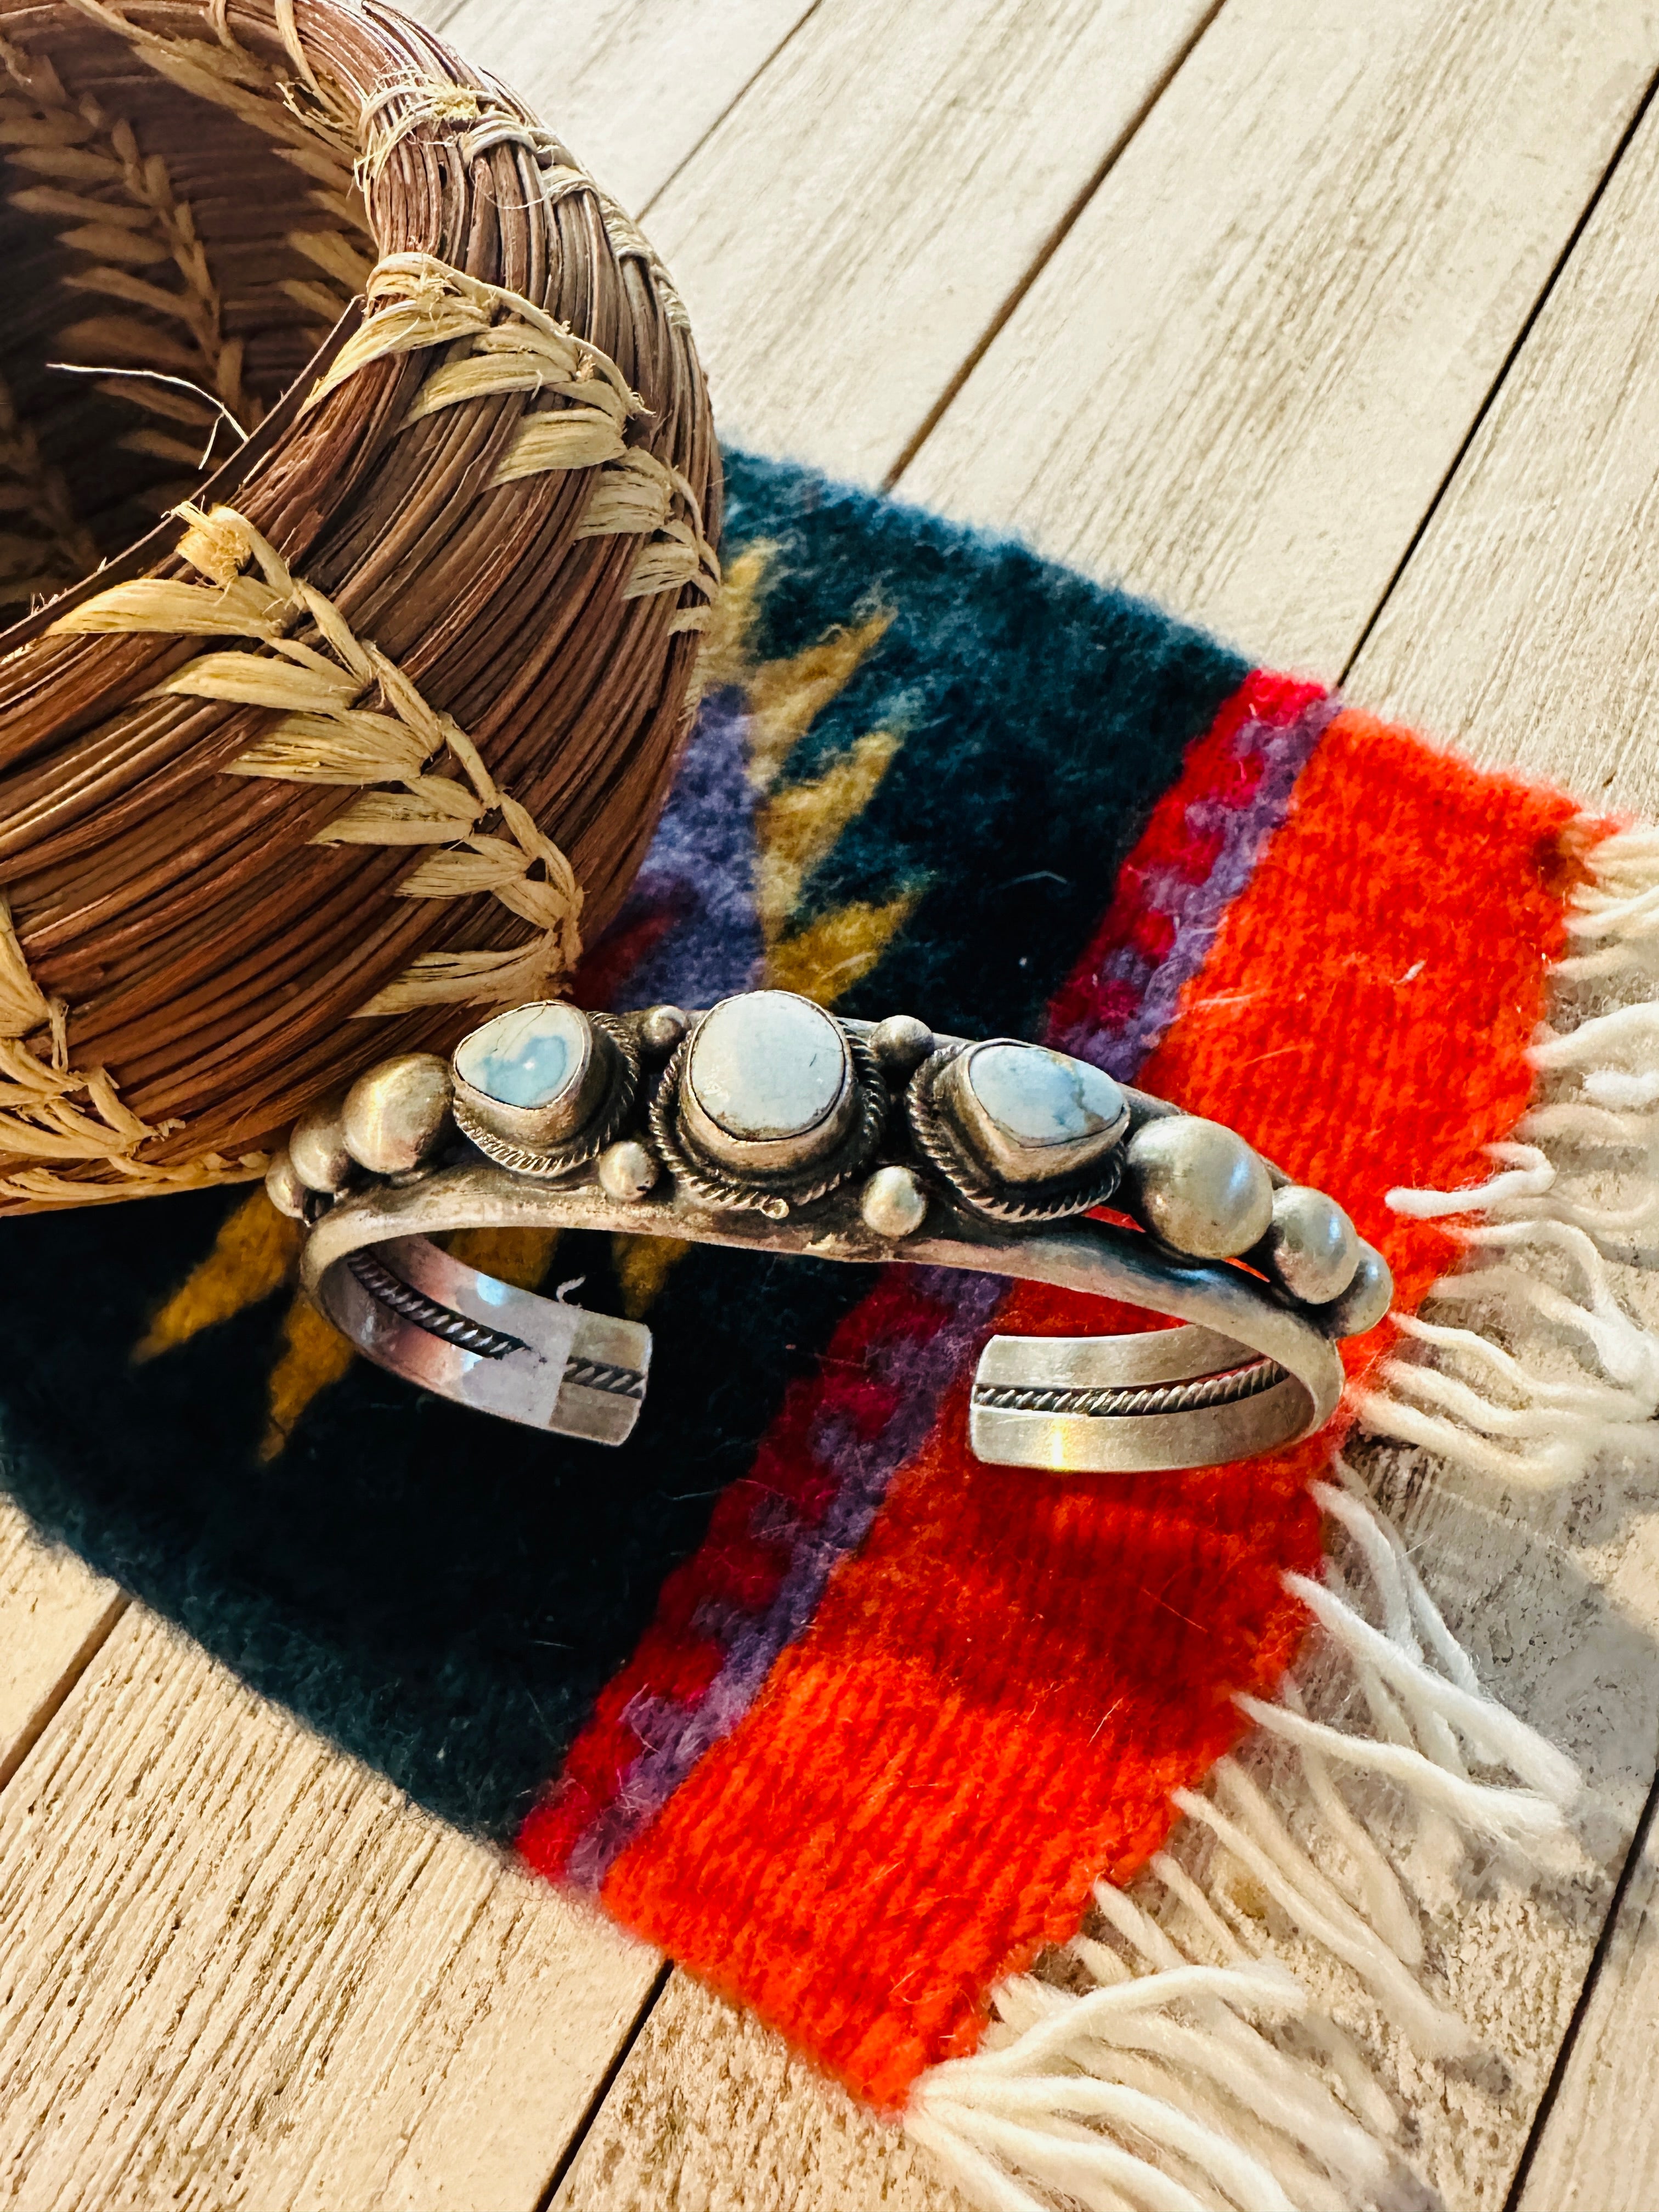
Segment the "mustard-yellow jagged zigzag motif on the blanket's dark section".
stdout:
[[[757,812],[757,902],[765,945],[765,982],[834,1004],[880,960],[889,938],[909,918],[916,894],[883,905],[854,900],[821,914],[794,936],[787,925],[807,876],[834,852],[836,841],[874,799],[902,734],[867,730],[849,752],[810,783],[783,783],[787,759],[887,635],[891,613],[832,630],[803,653],[754,661],[750,653],[765,573],[774,546],[748,546],[726,571],[701,657],[701,688],[728,684],[748,699],[750,781],[765,799]],[[447,1239],[456,1259],[522,1290],[535,1290],[553,1265],[557,1230],[462,1230]],[[257,1190],[221,1225],[212,1250],[166,1301],[135,1347],[148,1360],[188,1343],[201,1329],[230,1321],[270,1298],[290,1279],[299,1225],[285,1221]],[[615,1237],[613,1256],[630,1318],[650,1312],[679,1259],[690,1250],[672,1237]],[[338,1383],[352,1347],[301,1296],[283,1316],[283,1349],[265,1391],[261,1458],[274,1460],[312,1400]]]

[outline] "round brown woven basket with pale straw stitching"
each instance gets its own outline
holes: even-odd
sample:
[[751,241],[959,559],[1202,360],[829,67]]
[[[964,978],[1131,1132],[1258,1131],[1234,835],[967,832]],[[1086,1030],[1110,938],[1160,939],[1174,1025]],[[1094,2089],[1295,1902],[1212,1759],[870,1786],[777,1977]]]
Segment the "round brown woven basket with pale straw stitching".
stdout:
[[376,0],[0,0],[0,62],[15,1212],[257,1175],[560,989],[672,772],[719,456],[628,217]]

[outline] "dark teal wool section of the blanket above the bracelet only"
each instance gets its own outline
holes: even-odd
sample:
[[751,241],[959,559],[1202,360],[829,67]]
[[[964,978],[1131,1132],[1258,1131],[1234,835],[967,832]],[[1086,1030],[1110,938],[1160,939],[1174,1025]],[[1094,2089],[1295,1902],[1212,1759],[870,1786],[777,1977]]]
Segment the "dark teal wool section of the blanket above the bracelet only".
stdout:
[[1250,664],[1015,540],[787,462],[728,451],[726,465],[728,549],[776,546],[759,657],[894,613],[790,759],[805,781],[863,730],[902,732],[796,918],[922,894],[841,1011],[1042,1035],[1130,845]]

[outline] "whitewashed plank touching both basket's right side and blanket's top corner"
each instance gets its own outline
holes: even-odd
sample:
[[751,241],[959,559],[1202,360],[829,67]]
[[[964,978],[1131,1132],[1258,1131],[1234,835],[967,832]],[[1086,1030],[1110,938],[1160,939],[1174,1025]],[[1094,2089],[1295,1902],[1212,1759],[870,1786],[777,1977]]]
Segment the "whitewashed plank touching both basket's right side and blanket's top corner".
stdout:
[[823,0],[650,210],[726,434],[878,480],[1212,4]]

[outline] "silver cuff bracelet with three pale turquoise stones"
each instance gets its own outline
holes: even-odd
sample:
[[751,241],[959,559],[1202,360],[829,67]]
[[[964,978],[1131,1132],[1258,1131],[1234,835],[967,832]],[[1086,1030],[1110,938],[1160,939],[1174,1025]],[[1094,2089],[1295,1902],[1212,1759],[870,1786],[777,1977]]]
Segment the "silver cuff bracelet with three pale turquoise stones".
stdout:
[[[1024,1276],[1181,1323],[993,1336],[982,1460],[1212,1467],[1321,1427],[1334,1340],[1389,1307],[1347,1214],[1232,1130],[1009,1037],[843,1022],[790,991],[708,1013],[498,1013],[449,1062],[405,1053],[294,1124],[268,1190],[303,1283],[422,1389],[619,1444],[650,1332],[498,1283],[431,1239],[584,1228]],[[1108,1208],[1115,1219],[1091,1219]]]

